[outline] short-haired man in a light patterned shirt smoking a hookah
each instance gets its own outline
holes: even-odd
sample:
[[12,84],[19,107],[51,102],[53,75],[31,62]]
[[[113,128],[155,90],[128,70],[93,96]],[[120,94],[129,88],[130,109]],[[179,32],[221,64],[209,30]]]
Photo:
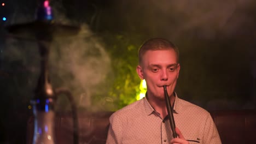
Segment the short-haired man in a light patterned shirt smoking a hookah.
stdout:
[[[179,51],[162,38],[147,40],[138,52],[139,78],[147,82],[146,98],[113,113],[107,143],[203,143],[218,144],[220,137],[210,113],[179,99],[174,92],[179,76]],[[177,138],[173,139],[164,88],[166,85]]]

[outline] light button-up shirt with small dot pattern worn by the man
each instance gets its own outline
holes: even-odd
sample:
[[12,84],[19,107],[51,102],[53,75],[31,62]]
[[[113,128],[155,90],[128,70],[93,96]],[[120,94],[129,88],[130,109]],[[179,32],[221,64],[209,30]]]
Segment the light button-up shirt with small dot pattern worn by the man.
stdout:
[[[176,127],[190,144],[219,144],[218,131],[209,112],[179,99],[173,107]],[[146,98],[136,101],[109,118],[107,144],[113,143],[170,143],[173,139],[170,122],[162,119]]]

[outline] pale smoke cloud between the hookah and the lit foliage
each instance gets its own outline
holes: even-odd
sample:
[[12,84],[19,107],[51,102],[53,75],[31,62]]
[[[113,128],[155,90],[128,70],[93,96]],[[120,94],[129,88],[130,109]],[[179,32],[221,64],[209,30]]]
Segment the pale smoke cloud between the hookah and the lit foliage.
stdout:
[[51,73],[59,80],[57,85],[71,88],[80,107],[91,109],[92,95],[106,95],[110,58],[86,25],[72,38],[55,38],[50,62]]

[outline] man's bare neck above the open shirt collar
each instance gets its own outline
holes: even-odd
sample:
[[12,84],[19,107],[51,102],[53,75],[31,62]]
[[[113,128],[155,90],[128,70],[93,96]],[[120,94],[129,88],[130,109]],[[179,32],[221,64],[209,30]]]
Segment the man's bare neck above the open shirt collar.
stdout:
[[[148,103],[155,109],[155,111],[160,113],[160,116],[161,116],[162,119],[164,119],[168,115],[168,112],[167,112],[167,109],[166,109],[165,99],[162,100],[162,99],[157,99],[155,97],[150,97],[150,96],[148,96],[147,99],[148,99]],[[171,102],[172,106],[174,104],[173,103],[174,100],[175,100],[175,97],[172,94],[170,96],[170,102]]]

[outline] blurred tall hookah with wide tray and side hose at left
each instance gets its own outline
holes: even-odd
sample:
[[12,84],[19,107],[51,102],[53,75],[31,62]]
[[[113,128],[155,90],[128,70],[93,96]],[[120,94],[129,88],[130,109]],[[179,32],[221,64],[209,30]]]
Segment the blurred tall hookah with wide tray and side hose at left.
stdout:
[[7,27],[8,32],[16,38],[27,38],[37,41],[40,55],[40,74],[34,97],[31,99],[34,115],[33,144],[56,143],[54,122],[54,107],[57,95],[65,94],[72,108],[73,117],[73,143],[79,142],[78,117],[74,99],[67,88],[54,89],[50,83],[49,76],[49,51],[53,34],[64,36],[77,34],[79,27],[61,25],[53,21],[53,11],[49,0],[39,0],[36,20],[30,23],[11,25]]

